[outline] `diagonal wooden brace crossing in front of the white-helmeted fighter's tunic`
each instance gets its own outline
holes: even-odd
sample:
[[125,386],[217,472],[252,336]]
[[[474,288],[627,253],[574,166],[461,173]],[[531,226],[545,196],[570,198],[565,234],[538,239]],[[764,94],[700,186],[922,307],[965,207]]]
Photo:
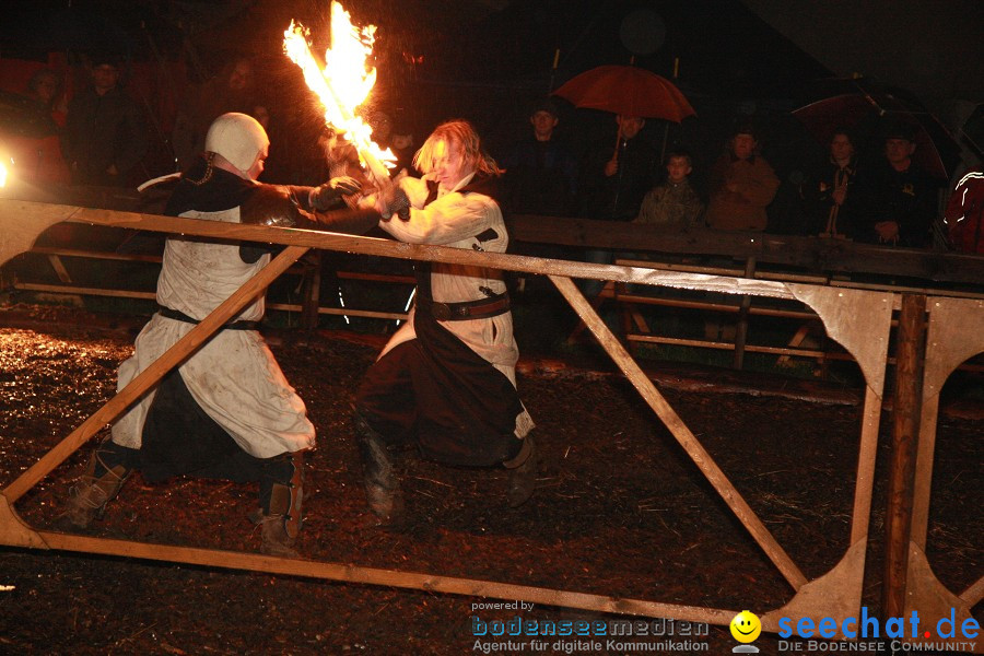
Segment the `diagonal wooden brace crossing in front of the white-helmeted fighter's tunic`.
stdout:
[[[209,222],[210,223],[210,222]],[[157,384],[167,372],[180,364],[194,353],[201,344],[222,327],[223,324],[234,317],[249,302],[260,295],[263,290],[283,273],[297,258],[307,253],[304,246],[291,246],[285,248],[269,265],[263,267],[256,276],[236,290],[229,298],[222,302],[208,317],[201,320],[185,337],[164,352],[149,367],[134,377],[129,385],[109,399],[102,408],[96,410],[78,429],[58,443],[51,450],[45,454],[27,471],[17,477],[3,490],[3,495],[15,502],[25,492],[33,488],[39,480],[58,467],[66,458],[71,456],[90,437],[95,435],[103,426],[114,422],[126,411],[130,405],[139,399],[147,390]]]

